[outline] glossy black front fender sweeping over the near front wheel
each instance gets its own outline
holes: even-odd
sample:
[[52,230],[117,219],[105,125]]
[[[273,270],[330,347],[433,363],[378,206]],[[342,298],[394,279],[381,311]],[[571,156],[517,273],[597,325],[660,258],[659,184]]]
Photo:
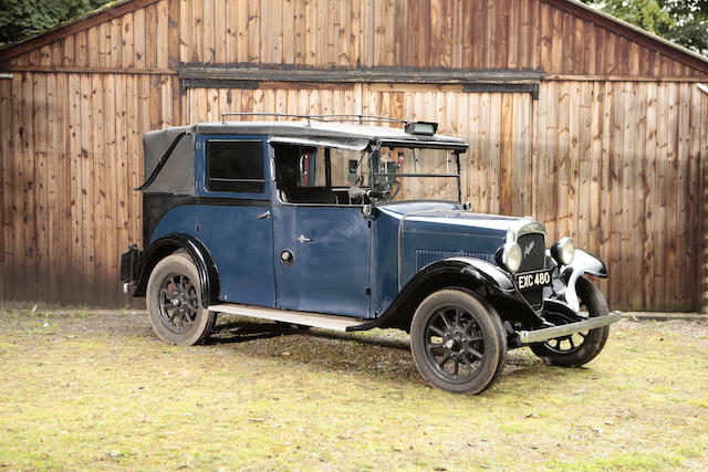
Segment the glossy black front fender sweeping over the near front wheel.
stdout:
[[408,329],[413,312],[433,292],[458,286],[478,293],[482,298],[492,295],[513,296],[513,281],[501,269],[476,258],[449,258],[435,261],[420,269],[400,290],[391,306],[371,323],[350,331],[366,331],[374,327],[398,327]]

